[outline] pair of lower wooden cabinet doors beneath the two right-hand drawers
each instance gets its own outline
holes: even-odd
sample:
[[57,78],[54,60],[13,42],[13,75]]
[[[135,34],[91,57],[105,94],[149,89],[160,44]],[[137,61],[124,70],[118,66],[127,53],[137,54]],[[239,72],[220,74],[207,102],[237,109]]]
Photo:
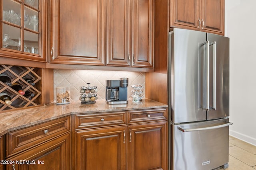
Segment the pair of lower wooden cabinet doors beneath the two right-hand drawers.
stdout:
[[76,131],[76,170],[167,170],[167,127],[161,121]]

